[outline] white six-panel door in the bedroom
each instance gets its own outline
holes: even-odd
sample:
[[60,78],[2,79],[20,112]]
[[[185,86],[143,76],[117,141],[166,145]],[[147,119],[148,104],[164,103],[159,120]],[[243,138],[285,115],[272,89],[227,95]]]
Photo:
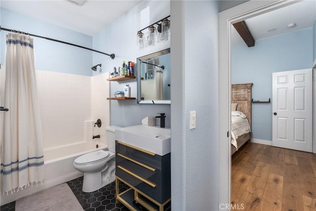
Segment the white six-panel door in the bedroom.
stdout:
[[312,152],[312,69],[277,72],[272,78],[272,145]]

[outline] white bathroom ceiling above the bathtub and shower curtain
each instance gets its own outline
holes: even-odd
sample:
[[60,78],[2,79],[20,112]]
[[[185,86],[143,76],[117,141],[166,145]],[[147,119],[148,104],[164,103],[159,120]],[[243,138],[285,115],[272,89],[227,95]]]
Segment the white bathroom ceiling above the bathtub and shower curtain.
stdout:
[[82,5],[78,5],[69,0],[0,0],[0,6],[93,36],[141,1],[84,0]]

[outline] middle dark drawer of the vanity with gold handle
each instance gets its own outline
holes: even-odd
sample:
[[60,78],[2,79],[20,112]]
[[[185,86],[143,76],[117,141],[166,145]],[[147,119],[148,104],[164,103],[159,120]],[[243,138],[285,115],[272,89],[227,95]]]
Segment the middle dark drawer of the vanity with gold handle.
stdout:
[[118,156],[116,157],[117,166],[127,169],[134,174],[137,174],[141,178],[154,183],[157,187],[162,187],[161,171],[143,165],[142,163],[134,163],[132,160],[127,160],[126,158],[129,159],[128,157],[125,157],[118,153]]

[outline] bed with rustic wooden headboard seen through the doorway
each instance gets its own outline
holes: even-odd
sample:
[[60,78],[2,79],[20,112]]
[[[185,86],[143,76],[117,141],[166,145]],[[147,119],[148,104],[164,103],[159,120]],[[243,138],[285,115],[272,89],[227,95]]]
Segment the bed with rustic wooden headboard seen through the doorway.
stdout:
[[[237,104],[236,112],[232,111],[232,155],[251,137],[251,86],[252,83],[232,84],[232,110]],[[242,118],[240,112],[245,115],[245,118]],[[238,124],[241,126],[237,126],[236,121],[240,122]],[[246,128],[247,124],[249,124],[248,128]],[[236,128],[239,128],[239,131],[236,131]]]

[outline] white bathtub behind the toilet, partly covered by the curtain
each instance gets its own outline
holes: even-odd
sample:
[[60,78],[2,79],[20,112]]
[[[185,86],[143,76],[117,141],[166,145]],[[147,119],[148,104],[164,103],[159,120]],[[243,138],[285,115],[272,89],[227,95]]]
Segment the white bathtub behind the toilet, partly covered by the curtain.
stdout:
[[[98,148],[96,148],[97,144]],[[104,143],[93,141],[44,149],[45,182],[38,186],[33,185],[14,194],[1,195],[0,205],[5,205],[22,197],[83,176],[83,173],[76,170],[73,166],[75,159],[85,153],[101,149],[107,150],[107,146]]]

